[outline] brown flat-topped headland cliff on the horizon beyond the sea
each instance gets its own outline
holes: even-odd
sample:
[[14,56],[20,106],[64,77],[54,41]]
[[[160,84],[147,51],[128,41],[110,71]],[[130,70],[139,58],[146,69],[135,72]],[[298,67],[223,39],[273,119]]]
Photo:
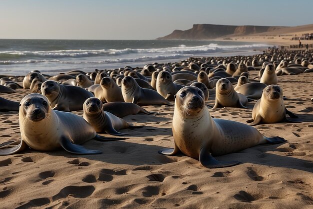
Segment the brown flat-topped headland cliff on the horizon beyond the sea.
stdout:
[[223,36],[251,35],[271,32],[285,27],[281,26],[227,26],[212,24],[194,24],[191,29],[174,30],[171,34],[157,40],[207,40]]

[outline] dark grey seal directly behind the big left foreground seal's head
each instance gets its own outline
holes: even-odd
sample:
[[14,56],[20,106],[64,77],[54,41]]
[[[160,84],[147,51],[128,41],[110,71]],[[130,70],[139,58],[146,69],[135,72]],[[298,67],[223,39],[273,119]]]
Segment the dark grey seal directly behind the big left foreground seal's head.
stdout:
[[66,86],[56,81],[47,80],[41,84],[41,93],[46,96],[54,110],[82,110],[84,101],[93,97],[91,92],[78,86]]

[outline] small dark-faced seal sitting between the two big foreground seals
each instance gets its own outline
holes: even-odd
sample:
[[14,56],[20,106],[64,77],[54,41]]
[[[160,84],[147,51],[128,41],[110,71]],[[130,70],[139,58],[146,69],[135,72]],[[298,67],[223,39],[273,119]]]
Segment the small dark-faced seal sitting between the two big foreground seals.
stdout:
[[118,132],[118,130],[134,127],[112,113],[103,111],[102,102],[95,97],[90,97],[83,103],[83,119],[85,119],[97,133],[106,132],[111,135],[125,135],[124,133]]

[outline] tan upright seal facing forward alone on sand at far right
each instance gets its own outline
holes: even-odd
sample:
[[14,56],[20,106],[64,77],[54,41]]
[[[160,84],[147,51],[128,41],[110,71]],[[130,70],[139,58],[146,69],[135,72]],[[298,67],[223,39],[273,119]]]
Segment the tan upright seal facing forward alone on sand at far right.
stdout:
[[288,111],[283,102],[282,89],[277,85],[269,85],[264,88],[261,98],[255,103],[252,110],[252,120],[248,120],[250,125],[259,123],[278,123],[281,121],[299,122],[286,117],[297,118]]

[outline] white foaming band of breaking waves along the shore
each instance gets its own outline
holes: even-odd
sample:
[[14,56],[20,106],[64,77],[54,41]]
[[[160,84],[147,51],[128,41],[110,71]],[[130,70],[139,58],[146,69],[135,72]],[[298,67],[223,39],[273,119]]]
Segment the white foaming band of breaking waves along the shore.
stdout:
[[[151,49],[100,49],[100,50],[55,50],[55,51],[0,51],[0,64],[15,62],[14,60],[27,59],[38,60],[48,58],[85,58],[85,57],[101,57],[101,56],[120,56],[130,54],[149,54],[149,55],[172,55],[172,54],[206,54],[214,52],[222,52],[235,49],[251,49],[251,48],[264,48],[269,45],[265,44],[251,44],[251,45],[217,45],[209,44],[202,46],[187,47],[179,45],[177,47],[167,48],[151,48]],[[12,61],[13,60],[13,61]],[[24,61],[22,61],[24,62]],[[40,61],[41,62],[41,61]],[[42,60],[42,62],[45,62]]]

